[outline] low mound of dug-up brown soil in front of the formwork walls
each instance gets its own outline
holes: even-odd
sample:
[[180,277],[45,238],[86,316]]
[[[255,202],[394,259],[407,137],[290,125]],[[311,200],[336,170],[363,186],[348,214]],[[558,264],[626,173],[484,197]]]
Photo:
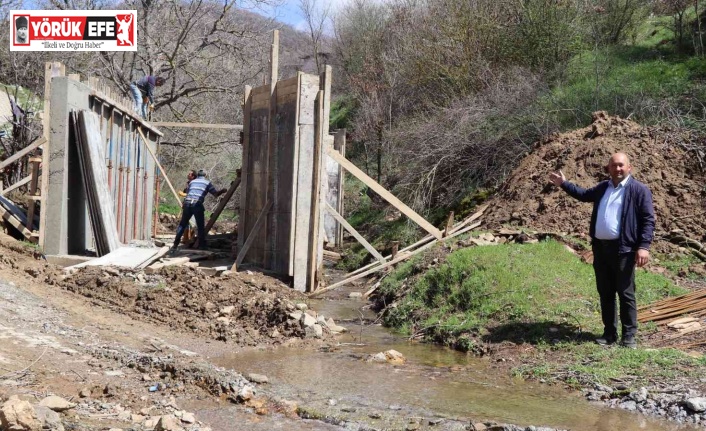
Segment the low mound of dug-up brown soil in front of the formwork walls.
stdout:
[[290,317],[294,303],[304,297],[257,273],[209,277],[195,268],[169,268],[147,276],[86,267],[57,284],[137,319],[243,346],[306,336],[300,322]]

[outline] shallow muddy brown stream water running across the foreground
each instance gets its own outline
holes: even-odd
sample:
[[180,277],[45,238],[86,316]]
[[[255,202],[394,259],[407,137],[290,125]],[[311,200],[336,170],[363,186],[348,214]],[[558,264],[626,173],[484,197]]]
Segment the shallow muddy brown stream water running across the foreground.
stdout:
[[[489,420],[576,431],[697,429],[592,404],[563,388],[514,380],[484,359],[409,343],[375,324],[374,314],[362,309],[364,301],[309,305],[350,332],[319,351],[280,348],[210,360],[243,373],[266,374],[272,383],[265,389],[268,395],[293,400],[312,417],[337,424],[407,429],[416,422],[418,429],[451,430]],[[401,352],[407,363],[365,361],[389,349]]]

